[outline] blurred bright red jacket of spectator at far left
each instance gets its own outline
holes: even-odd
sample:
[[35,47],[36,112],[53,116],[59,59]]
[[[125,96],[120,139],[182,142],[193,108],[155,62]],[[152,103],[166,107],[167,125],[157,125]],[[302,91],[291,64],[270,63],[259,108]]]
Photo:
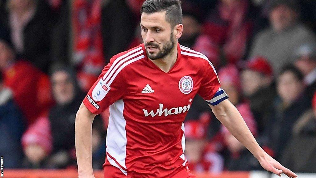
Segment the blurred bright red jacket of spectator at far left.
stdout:
[[13,91],[27,124],[32,124],[53,103],[49,77],[27,61],[16,61],[2,72],[4,85]]

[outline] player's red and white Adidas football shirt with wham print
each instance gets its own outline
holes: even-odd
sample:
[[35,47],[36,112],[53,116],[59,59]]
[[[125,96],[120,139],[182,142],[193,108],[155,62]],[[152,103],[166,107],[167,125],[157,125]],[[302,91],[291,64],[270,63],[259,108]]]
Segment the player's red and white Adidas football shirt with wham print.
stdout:
[[110,107],[108,162],[133,178],[172,177],[186,169],[184,124],[196,94],[211,105],[228,96],[205,55],[178,44],[169,72],[144,44],[113,56],[83,100],[94,114]]

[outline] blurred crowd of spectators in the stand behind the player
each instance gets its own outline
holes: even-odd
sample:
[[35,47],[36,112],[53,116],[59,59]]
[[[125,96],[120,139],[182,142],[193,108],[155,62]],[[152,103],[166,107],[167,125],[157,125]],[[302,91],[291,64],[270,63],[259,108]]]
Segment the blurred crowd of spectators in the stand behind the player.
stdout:
[[[0,155],[4,168],[76,168],[75,116],[110,58],[142,43],[143,0],[0,1]],[[179,43],[205,54],[258,143],[316,172],[316,1],[182,0]],[[93,168],[108,111],[94,119]],[[197,96],[185,120],[195,172],[261,170]]]

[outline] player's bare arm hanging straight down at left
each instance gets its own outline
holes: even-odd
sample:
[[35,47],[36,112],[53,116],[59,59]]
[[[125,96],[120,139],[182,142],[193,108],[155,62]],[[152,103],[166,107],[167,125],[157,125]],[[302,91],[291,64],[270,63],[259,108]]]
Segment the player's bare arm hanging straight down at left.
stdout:
[[95,115],[82,103],[76,114],[76,157],[79,178],[94,178],[92,170],[92,123]]

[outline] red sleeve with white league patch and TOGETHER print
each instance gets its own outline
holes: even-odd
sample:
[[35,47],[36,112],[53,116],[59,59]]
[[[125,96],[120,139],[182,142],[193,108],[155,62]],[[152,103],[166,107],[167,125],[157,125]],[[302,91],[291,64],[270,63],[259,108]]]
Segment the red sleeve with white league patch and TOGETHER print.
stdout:
[[118,71],[112,64],[111,59],[82,101],[94,114],[100,114],[125,94],[123,72]]

